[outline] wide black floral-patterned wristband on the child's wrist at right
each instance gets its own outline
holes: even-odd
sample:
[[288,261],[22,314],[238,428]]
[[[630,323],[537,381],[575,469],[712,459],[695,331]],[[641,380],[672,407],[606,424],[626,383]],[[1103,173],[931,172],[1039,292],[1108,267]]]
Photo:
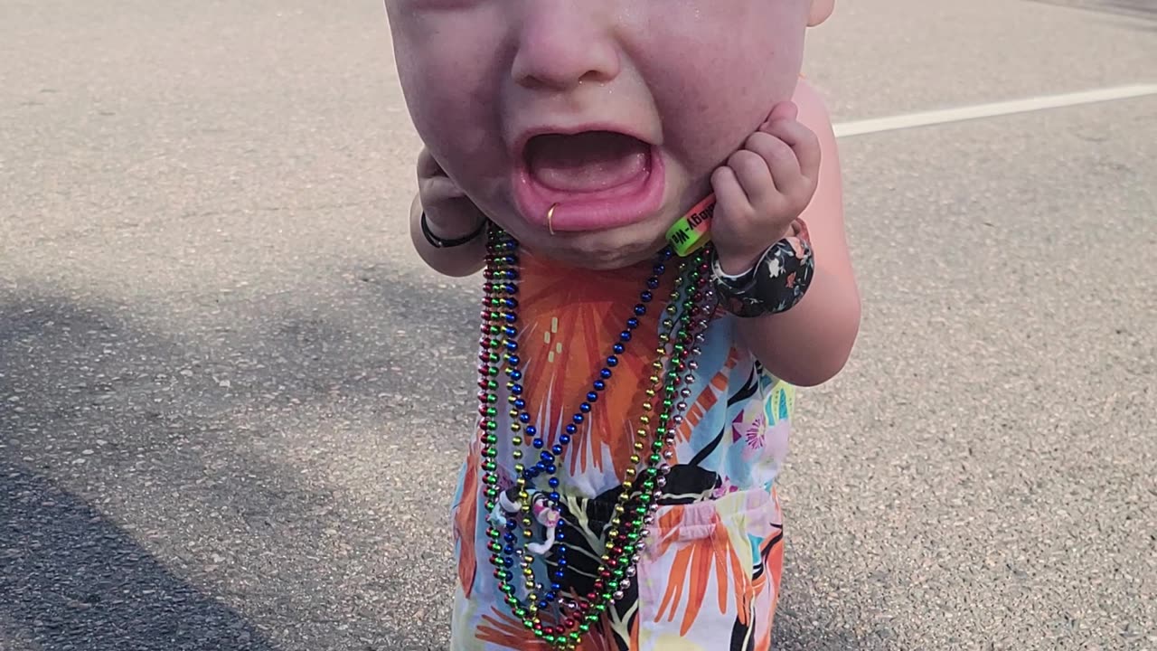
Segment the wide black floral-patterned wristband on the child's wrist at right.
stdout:
[[808,229],[801,222],[796,235],[772,244],[759,262],[739,277],[728,277],[713,262],[715,293],[729,313],[753,319],[795,307],[811,285],[816,270]]

